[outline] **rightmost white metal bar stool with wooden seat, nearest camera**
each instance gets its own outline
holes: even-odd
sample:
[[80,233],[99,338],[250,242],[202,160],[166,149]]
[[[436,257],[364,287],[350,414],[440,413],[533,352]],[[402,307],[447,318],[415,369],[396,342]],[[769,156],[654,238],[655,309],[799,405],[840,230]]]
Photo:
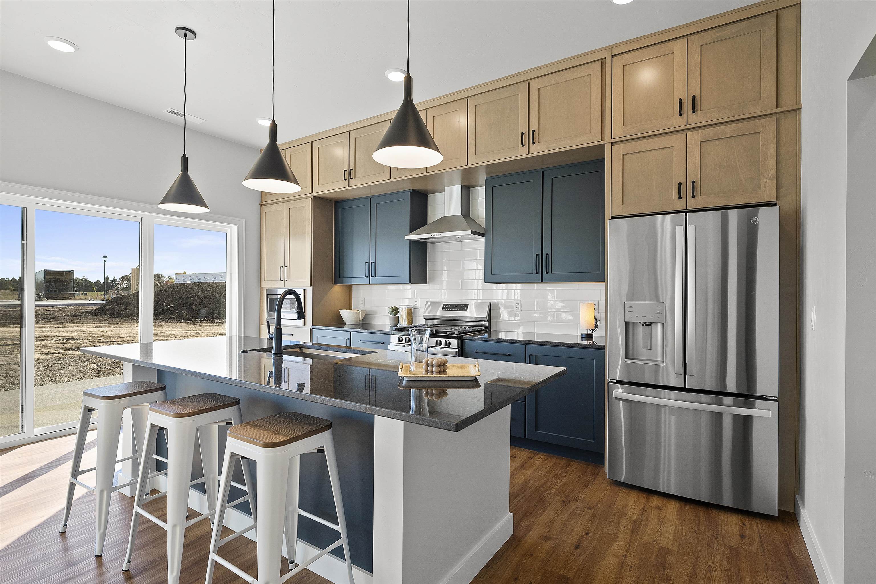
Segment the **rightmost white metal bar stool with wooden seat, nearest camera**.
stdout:
[[[325,450],[326,462],[329,465],[329,479],[332,493],[335,495],[337,524],[330,523],[298,508],[299,457],[301,454],[313,452],[317,448]],[[227,538],[221,538],[225,509],[228,507],[225,500],[228,498],[231,470],[241,457],[256,461],[258,512],[249,527],[236,531]],[[277,512],[278,509],[286,509],[286,512],[280,514]],[[340,531],[341,538],[303,564],[294,566],[299,515],[310,517],[314,521]],[[227,559],[221,558],[218,551],[220,545],[227,544],[247,531],[256,529],[257,525],[258,578],[253,578]],[[280,578],[284,531],[286,532],[286,558],[292,571]],[[213,581],[215,562],[219,562],[251,584],[279,584],[292,578],[293,575],[334,550],[338,545],[343,545],[348,578],[350,584],[353,584],[353,567],[350,564],[350,545],[347,541],[347,523],[343,515],[341,484],[337,475],[331,421],[298,412],[284,412],[232,426],[228,431],[228,442],[225,445],[222,481],[219,483],[219,504],[213,523],[213,538],[210,541],[206,584],[211,584]]]

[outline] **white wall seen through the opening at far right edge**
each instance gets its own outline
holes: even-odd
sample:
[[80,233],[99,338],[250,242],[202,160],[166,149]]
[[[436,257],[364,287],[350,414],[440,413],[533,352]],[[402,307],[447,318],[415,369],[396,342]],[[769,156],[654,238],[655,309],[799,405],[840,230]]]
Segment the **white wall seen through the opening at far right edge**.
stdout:
[[[876,57],[876,46],[871,46]],[[876,578],[876,75],[849,82],[845,581]]]

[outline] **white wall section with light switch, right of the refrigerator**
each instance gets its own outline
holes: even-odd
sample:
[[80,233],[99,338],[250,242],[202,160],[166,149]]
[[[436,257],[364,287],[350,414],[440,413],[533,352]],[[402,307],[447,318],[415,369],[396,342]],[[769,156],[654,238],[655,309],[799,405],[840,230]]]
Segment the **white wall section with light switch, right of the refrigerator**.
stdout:
[[876,2],[803,0],[801,28],[799,504],[813,561],[823,564],[823,580],[839,584],[860,581],[844,575],[846,85],[876,33]]

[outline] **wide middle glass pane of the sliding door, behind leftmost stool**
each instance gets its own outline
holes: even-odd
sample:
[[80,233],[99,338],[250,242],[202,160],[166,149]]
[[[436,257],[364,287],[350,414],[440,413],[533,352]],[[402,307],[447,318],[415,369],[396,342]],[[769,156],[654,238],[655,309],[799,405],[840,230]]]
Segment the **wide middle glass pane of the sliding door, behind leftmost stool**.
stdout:
[[77,422],[84,389],[122,381],[121,363],[79,349],[138,341],[140,224],[50,210],[35,222],[34,427],[44,428]]

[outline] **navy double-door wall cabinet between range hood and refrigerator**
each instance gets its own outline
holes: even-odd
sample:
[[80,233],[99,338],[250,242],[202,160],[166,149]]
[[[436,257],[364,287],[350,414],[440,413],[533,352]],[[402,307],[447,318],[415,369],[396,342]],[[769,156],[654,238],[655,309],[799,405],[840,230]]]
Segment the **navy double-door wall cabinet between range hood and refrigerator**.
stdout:
[[486,180],[484,281],[604,281],[604,160]]

